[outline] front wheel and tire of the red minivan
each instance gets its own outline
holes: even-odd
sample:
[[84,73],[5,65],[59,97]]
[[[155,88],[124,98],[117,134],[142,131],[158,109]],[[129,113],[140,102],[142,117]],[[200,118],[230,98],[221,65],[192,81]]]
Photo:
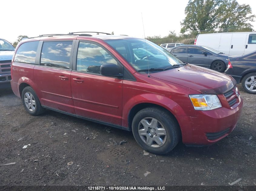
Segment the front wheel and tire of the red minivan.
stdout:
[[166,154],[179,142],[180,128],[173,116],[157,107],[140,110],[132,120],[136,142],[146,151]]

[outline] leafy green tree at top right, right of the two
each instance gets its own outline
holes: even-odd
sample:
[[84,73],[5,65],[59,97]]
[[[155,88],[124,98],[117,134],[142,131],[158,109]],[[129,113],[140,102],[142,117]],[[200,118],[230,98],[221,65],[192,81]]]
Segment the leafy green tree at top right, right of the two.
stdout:
[[220,29],[227,28],[252,28],[248,21],[254,21],[255,15],[251,12],[250,5],[239,5],[236,0],[224,0],[220,7]]

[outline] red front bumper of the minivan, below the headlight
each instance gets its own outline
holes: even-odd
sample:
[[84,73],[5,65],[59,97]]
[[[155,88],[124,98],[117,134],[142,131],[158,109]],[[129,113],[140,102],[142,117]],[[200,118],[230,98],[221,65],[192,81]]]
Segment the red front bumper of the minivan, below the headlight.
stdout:
[[198,111],[197,117],[178,116],[182,141],[187,145],[211,145],[230,134],[242,113],[243,100],[234,109],[221,107]]

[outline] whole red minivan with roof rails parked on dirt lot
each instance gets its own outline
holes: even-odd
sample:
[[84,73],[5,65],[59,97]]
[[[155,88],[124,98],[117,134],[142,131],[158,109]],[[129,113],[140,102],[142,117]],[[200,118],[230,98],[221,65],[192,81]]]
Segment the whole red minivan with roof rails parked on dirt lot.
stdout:
[[235,128],[243,100],[225,74],[181,62],[148,40],[86,32],[22,40],[12,90],[45,109],[132,131],[145,150],[211,145]]

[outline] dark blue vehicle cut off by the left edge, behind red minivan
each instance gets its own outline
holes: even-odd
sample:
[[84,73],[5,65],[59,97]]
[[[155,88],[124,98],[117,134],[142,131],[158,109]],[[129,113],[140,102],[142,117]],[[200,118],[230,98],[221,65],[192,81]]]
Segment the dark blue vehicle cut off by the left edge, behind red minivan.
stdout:
[[5,39],[0,39],[0,88],[10,87],[11,62],[15,48]]

